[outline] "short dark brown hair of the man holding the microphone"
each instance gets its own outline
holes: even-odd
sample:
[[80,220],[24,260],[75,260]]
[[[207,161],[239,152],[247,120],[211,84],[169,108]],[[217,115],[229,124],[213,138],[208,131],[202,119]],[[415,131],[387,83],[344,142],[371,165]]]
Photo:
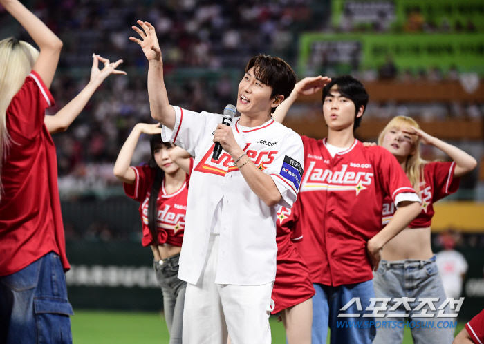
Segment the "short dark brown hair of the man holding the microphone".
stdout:
[[[254,67],[254,77],[263,84],[272,87],[270,97],[283,95],[287,99],[296,84],[296,73],[290,68],[286,61],[279,57],[268,55],[257,55],[250,59],[245,66],[245,73]],[[272,108],[272,113],[276,108]]]

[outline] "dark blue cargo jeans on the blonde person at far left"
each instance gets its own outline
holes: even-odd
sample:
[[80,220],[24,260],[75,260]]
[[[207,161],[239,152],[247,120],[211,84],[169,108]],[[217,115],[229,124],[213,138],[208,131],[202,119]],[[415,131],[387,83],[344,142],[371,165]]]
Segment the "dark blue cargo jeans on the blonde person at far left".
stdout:
[[50,252],[0,277],[0,343],[72,343],[71,304],[60,258]]

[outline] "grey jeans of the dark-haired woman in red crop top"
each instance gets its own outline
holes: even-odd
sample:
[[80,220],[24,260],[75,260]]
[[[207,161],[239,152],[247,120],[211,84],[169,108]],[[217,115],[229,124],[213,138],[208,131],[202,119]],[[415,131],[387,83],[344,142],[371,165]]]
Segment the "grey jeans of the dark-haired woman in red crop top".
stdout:
[[181,344],[183,334],[183,307],[187,283],[178,279],[179,258],[180,254],[176,254],[153,262],[156,280],[163,293],[163,308],[170,336],[169,344]]

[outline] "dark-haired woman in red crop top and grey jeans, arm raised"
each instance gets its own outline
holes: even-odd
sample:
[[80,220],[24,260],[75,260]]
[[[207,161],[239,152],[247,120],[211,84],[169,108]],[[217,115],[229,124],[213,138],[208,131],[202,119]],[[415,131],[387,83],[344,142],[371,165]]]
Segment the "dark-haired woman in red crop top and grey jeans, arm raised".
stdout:
[[[181,343],[183,304],[187,283],[178,279],[185,228],[189,176],[171,161],[174,144],[162,142],[160,124],[136,124],[122,146],[114,166],[124,192],[140,202],[142,245],[151,247],[156,278],[163,293],[163,305],[170,344]],[[142,133],[151,135],[151,160],[144,166],[129,166]]]

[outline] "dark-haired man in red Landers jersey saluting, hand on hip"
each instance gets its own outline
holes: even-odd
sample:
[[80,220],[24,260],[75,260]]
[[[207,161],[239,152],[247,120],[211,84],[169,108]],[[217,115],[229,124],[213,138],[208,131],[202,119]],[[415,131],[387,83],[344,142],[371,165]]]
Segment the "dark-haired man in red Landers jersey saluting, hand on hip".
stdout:
[[[328,137],[302,137],[305,170],[295,204],[300,211],[296,225],[304,234],[297,249],[316,290],[312,339],[326,343],[329,326],[333,344],[371,343],[376,333],[372,311],[379,306],[370,300],[375,297],[372,269],[378,267],[383,245],[420,213],[420,199],[391,153],[355,140],[369,96],[353,77],[302,80],[274,119],[282,122],[299,95],[321,88]],[[398,216],[380,230],[385,195],[397,204]]]

